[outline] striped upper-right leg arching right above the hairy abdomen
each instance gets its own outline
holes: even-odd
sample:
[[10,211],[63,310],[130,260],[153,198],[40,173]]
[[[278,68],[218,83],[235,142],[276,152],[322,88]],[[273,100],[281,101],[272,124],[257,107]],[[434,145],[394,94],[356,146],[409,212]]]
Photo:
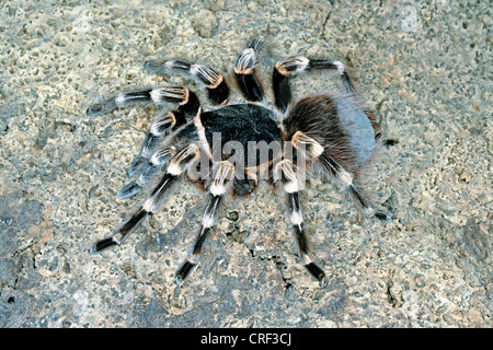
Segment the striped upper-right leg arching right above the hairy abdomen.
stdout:
[[303,56],[291,56],[276,62],[272,84],[276,106],[285,112],[291,102],[289,77],[314,69],[335,70],[348,92],[356,93],[355,85],[343,62],[331,59],[312,59]]

